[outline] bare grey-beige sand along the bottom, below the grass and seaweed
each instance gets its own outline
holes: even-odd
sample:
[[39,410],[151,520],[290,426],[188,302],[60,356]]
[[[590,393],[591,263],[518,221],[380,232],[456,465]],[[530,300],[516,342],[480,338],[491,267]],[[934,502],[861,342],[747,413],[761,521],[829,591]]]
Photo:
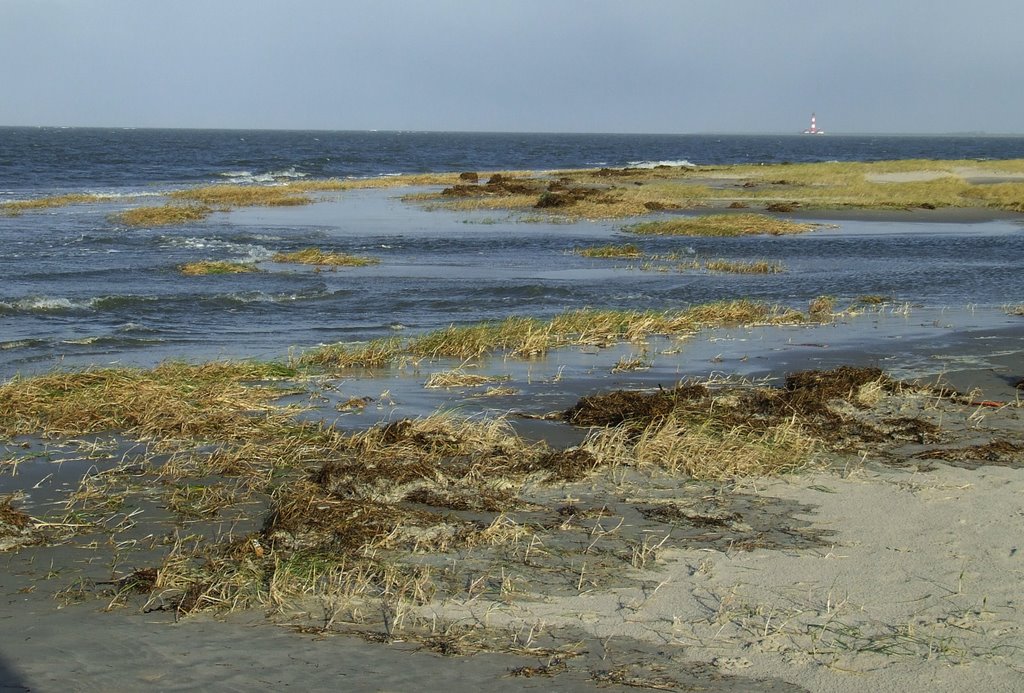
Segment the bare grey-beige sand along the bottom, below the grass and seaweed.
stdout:
[[[829,329],[835,330],[827,326],[810,330]],[[808,328],[754,330],[792,333]],[[1013,327],[1007,330],[1020,334]],[[722,342],[722,337],[730,341]],[[729,355],[721,348],[731,343],[748,356],[757,356],[743,346],[749,337],[745,329],[718,330],[706,333],[699,342],[707,353],[721,353],[716,365],[728,373],[729,362],[741,358],[740,351]],[[972,341],[953,341],[944,349],[952,357]],[[821,367],[855,360],[846,357],[856,351],[828,351],[820,343],[775,351],[774,344],[787,342],[790,338],[759,340],[764,354],[775,357],[792,348],[827,352],[827,361],[818,363]],[[580,357],[591,362],[599,357],[607,364],[630,348],[581,352]],[[979,374],[998,363],[1009,378],[1020,362],[1015,360],[1020,352],[1010,356],[996,351],[981,363],[968,363],[956,378],[976,382]],[[573,369],[558,354],[551,360],[562,369],[562,377],[566,366]],[[798,360],[806,362],[806,355]],[[740,363],[749,361],[735,361]],[[594,366],[582,372],[588,367],[593,371]],[[538,385],[541,390],[554,388],[570,399],[585,391],[608,391],[616,386],[650,391],[651,379],[662,378],[653,371],[624,374],[615,382],[606,376],[560,377],[557,383],[544,386],[542,379]],[[947,374],[943,380],[954,379]],[[1009,381],[1004,385],[1009,388]],[[563,401],[565,395],[561,395]],[[398,389],[394,396],[412,395]],[[1007,578],[1022,574],[1024,564],[1014,544],[1014,523],[1005,521],[1014,516],[1024,495],[1021,403],[1018,399],[992,408],[902,396],[886,402],[879,414],[870,415],[871,421],[894,417],[935,421],[942,431],[937,434],[939,448],[978,445],[990,439],[1020,447],[1011,448],[1009,457],[999,458],[1001,462],[978,460],[969,467],[941,459],[914,463],[912,456],[931,449],[935,441],[922,446],[909,442],[911,437],[896,441],[891,462],[881,462],[873,452],[866,457],[828,452],[813,469],[781,477],[737,478],[725,485],[677,485],[681,480],[673,475],[624,472],[598,474],[582,484],[550,490],[537,486],[530,491],[531,503],[551,507],[563,497],[574,499],[581,509],[607,506],[607,520],[584,520],[584,515],[575,520],[583,523],[584,535],[591,537],[584,545],[604,536],[601,542],[611,543],[604,550],[607,553],[578,554],[582,547],[572,548],[571,542],[565,544],[567,539],[550,533],[541,544],[516,543],[499,561],[513,580],[514,588],[507,595],[501,591],[474,595],[470,590],[439,602],[428,601],[415,608],[416,618],[413,612],[406,616],[408,630],[396,630],[394,636],[386,619],[377,622],[374,602],[366,622],[349,615],[331,619],[326,630],[330,607],[322,599],[289,600],[284,610],[250,608],[221,616],[214,611],[211,615],[216,620],[206,614],[182,615],[179,620],[173,611],[150,611],[162,602],[140,595],[126,596],[124,605],[102,613],[111,593],[93,581],[152,565],[145,556],[159,560],[165,551],[159,543],[151,540],[148,549],[130,550],[122,557],[115,553],[113,559],[100,558],[103,552],[95,546],[83,554],[86,547],[75,548],[74,540],[67,546],[26,547],[0,554],[0,590],[8,604],[0,629],[8,634],[5,642],[16,643],[0,652],[8,669],[6,681],[26,689],[45,687],[65,677],[85,678],[96,685],[130,686],[134,681],[217,688],[280,680],[316,686],[338,675],[338,657],[351,657],[343,660],[349,662],[342,669],[346,681],[377,690],[430,680],[446,682],[455,691],[468,691],[474,681],[490,678],[497,680],[496,690],[529,690],[535,685],[539,689],[554,685],[572,690],[631,690],[640,685],[677,690],[700,685],[712,691],[752,687],[855,691],[865,686],[913,687],[920,681],[929,681],[936,690],[1011,686],[1024,665],[1024,655],[1013,645],[1014,634],[1024,631],[1024,620],[1013,608],[1016,582]],[[379,419],[381,414],[370,416]],[[550,429],[542,429],[541,435],[550,436]],[[893,464],[903,459],[909,464]],[[45,470],[33,472],[32,464],[23,465],[18,471],[23,484],[32,481],[33,474],[45,477]],[[63,476],[73,477],[74,473]],[[657,489],[653,494],[651,484]],[[31,492],[36,496],[40,491]],[[45,502],[36,501],[36,508]],[[648,525],[631,510],[637,507],[684,508],[680,517],[702,517],[701,522],[710,524],[673,521],[666,534],[665,525]],[[865,508],[871,512],[865,513]],[[180,522],[167,517],[166,510],[145,512],[155,516],[150,521],[141,519],[138,527],[122,530],[121,542],[159,536]],[[115,513],[112,517],[117,519],[108,524],[120,522],[126,513]],[[616,522],[622,524],[616,514],[622,514],[626,525],[614,530]],[[893,518],[899,519],[892,522]],[[258,521],[258,514],[253,517],[251,510],[243,509],[241,515],[218,519],[204,531],[244,535],[251,531],[246,527]],[[535,522],[539,524],[532,531],[540,532],[545,523]],[[567,520],[562,518],[562,522]],[[191,524],[194,529],[189,529],[190,524],[179,525],[175,532],[205,526],[205,522]],[[627,529],[634,538],[616,538],[615,531]],[[663,538],[670,535],[674,538],[663,546]],[[538,536],[535,533],[535,539]],[[539,563],[528,558],[530,546],[536,546]],[[630,547],[632,565],[627,558]],[[642,559],[637,558],[638,548],[643,549]],[[562,552],[578,558],[559,559],[567,561],[564,565],[559,561],[548,565],[551,557]],[[72,568],[83,565],[76,556],[90,554],[96,557],[88,563],[95,561],[96,567]],[[414,561],[426,558],[416,559],[416,555],[411,555]],[[474,560],[471,557],[456,554],[452,565],[467,562],[468,568]],[[104,567],[112,560],[113,570]],[[624,560],[625,572],[612,568]],[[53,577],[43,579],[44,563],[51,566]],[[995,564],[998,570],[989,569]],[[517,572],[523,574],[517,577]],[[472,569],[469,574],[474,574]],[[547,577],[537,581],[542,575]],[[52,594],[57,586],[48,584],[51,580],[62,586],[57,601]],[[66,604],[62,608],[61,603]],[[271,617],[264,620],[266,613]],[[97,629],[110,637],[83,638]],[[385,642],[368,642],[382,629],[388,634]],[[28,635],[16,638],[14,634]],[[69,638],[76,643],[76,654],[60,657],[70,647],[62,644]],[[134,664],[125,662],[122,648],[140,639],[151,642],[146,654]],[[234,649],[242,643],[245,653],[233,652],[229,657],[218,653],[220,648]],[[172,657],[171,652],[179,654]],[[59,665],[52,663],[52,657],[58,658]],[[374,663],[365,665],[367,661]],[[187,663],[184,669],[183,663]],[[447,679],[453,663],[455,670],[464,673],[463,679]]]

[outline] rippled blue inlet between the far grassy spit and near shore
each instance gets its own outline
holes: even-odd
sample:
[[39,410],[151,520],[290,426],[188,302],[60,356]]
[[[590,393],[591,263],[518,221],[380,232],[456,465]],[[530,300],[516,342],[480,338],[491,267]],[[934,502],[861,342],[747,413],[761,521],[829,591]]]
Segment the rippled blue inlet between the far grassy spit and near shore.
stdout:
[[[393,191],[302,208],[219,213],[187,227],[126,229],[117,205],[0,217],[0,376],[56,363],[282,358],[289,349],[583,307],[671,309],[751,298],[804,309],[881,295],[930,308],[996,310],[1024,296],[1024,227],[1011,220],[843,221],[799,236],[634,237],[623,222],[524,223],[424,211]],[[574,249],[634,243],[647,254],[768,259],[780,274],[643,269]],[[318,271],[270,262],[315,246],[379,265]],[[258,262],[258,273],[182,276],[196,260]]]

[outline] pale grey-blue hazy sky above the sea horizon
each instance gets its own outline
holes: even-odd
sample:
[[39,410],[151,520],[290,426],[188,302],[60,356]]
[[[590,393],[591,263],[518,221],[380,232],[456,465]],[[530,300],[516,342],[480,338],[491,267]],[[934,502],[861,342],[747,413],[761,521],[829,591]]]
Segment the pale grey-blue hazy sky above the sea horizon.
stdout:
[[1021,0],[0,0],[0,126],[1024,133]]

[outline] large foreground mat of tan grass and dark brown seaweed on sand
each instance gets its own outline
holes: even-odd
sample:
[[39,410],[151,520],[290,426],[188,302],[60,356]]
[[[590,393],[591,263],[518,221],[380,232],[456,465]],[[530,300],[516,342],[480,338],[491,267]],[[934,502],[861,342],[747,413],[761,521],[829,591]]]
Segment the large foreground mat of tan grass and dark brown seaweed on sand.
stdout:
[[[583,445],[566,449],[526,442],[502,419],[451,415],[344,435],[305,434],[306,442],[293,447],[305,448],[307,472],[269,490],[259,531],[191,549],[178,543],[159,570],[155,593],[183,613],[254,605],[284,609],[314,598],[325,605],[324,627],[382,622],[389,637],[415,630],[422,624],[414,615],[418,606],[453,590],[475,597],[482,579],[457,587],[451,576],[415,565],[417,556],[452,555],[492,566],[474,568],[483,570],[481,575],[499,564],[505,574],[510,560],[539,574],[564,572],[572,554],[562,556],[564,549],[549,544],[552,527],[524,523],[518,515],[541,509],[527,497],[528,489],[586,481],[625,467],[716,480],[790,473],[811,464],[822,444],[804,421],[810,421],[809,413],[877,380],[874,371],[813,374],[778,392],[744,389],[737,395],[687,385],[672,392],[585,398],[567,421],[595,428]],[[597,416],[602,409],[609,418]],[[278,436],[273,445],[282,437],[288,436]],[[270,444],[249,443],[250,451],[241,457],[275,457]],[[237,502],[238,485],[215,488],[179,484],[172,502],[185,518],[208,517]],[[615,538],[614,529],[601,524],[603,513],[591,516],[581,509],[571,516],[555,525],[588,532],[584,545],[591,571],[610,569],[599,568],[602,561],[645,567],[668,540],[643,533]],[[620,548],[597,551],[600,542]],[[575,570],[578,591],[597,579],[587,568]],[[507,598],[507,575],[490,589]]]

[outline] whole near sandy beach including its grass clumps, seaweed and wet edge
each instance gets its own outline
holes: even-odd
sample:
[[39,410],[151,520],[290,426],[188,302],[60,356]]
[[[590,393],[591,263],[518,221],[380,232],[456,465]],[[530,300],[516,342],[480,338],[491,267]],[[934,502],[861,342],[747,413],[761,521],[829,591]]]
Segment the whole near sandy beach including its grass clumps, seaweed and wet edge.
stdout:
[[[1011,213],[835,216],[874,214]],[[128,436],[26,424],[0,689],[1022,690],[1018,310],[880,299],[248,376],[283,389],[173,433],[164,409]]]

